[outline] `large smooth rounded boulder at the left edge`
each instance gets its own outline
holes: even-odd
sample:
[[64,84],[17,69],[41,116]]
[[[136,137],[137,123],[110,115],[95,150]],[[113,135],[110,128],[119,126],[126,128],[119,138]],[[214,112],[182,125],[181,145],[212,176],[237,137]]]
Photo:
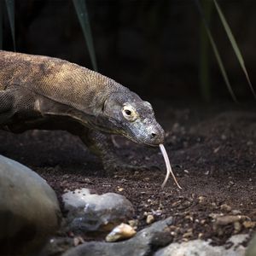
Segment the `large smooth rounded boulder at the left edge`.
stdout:
[[60,207],[36,172],[0,155],[0,254],[28,255],[54,233]]

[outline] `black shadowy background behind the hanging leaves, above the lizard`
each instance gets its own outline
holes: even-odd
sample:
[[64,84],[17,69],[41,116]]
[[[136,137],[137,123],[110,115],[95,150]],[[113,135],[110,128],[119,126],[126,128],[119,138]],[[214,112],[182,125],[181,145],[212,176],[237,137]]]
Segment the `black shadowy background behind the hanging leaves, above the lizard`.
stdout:
[[[3,0],[2,0],[3,1]],[[208,1],[208,0],[203,0]],[[198,100],[201,16],[193,0],[87,0],[99,72],[144,99]],[[255,84],[256,1],[218,1]],[[13,50],[4,7],[3,49]],[[213,6],[211,28],[239,100],[251,100],[246,79]],[[91,67],[73,1],[15,3],[16,50]],[[230,95],[210,48],[212,99]]]

